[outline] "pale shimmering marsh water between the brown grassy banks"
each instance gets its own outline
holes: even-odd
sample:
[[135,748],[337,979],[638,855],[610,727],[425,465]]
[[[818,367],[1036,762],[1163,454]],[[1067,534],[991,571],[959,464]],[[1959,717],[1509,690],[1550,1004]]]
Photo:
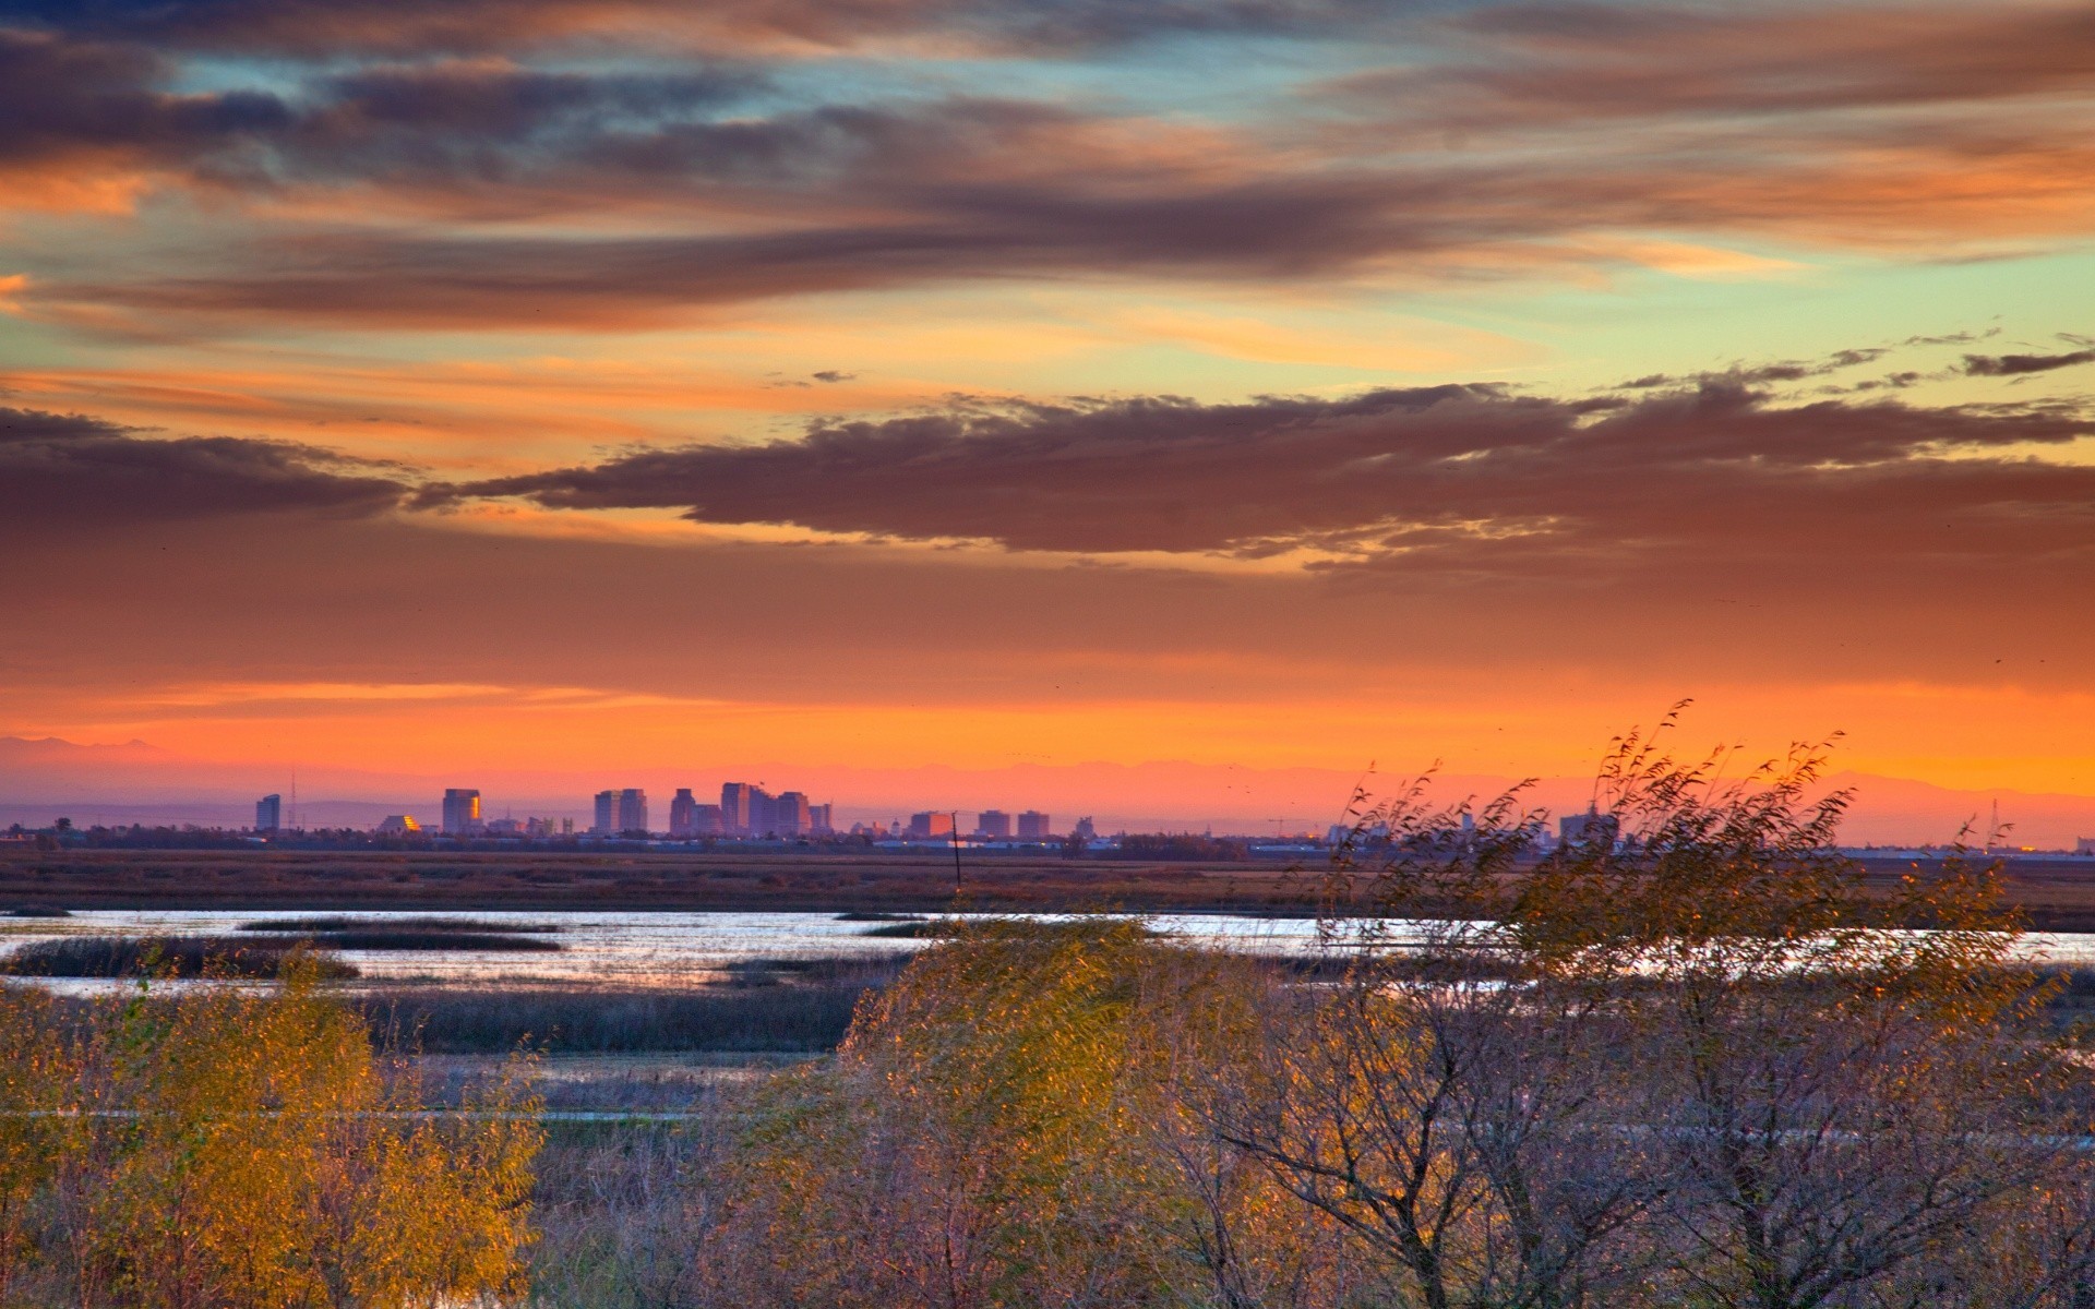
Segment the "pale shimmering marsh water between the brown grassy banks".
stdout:
[[[241,924],[310,917],[308,911],[153,911],[84,909],[63,919],[0,919],[0,953],[40,936],[214,936]],[[832,913],[444,913],[400,911],[350,917],[383,924],[390,919],[476,919],[549,926],[559,953],[505,951],[339,951],[365,978],[383,982],[597,982],[622,986],[698,984],[719,980],[735,963],[765,957],[878,955],[922,949],[920,940],[867,936],[880,924],[838,922]],[[1033,915],[1054,922],[1064,915]],[[1316,924],[1234,915],[1148,915],[1154,930],[1192,945],[1253,953],[1297,953],[1318,949]],[[1402,932],[1399,932],[1402,936]],[[2095,963],[2095,934],[2032,934],[2030,955],[2057,963]],[[67,989],[82,986],[73,982]],[[92,986],[88,982],[86,986]]]

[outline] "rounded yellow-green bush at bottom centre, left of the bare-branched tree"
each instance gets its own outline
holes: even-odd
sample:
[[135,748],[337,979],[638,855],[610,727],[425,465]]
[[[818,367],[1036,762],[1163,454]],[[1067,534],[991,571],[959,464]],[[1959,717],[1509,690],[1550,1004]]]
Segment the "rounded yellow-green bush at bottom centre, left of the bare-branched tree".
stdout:
[[765,1106],[723,1188],[760,1257],[723,1280],[750,1303],[945,1309],[1303,1282],[1328,1225],[1203,1127],[1255,1062],[1247,980],[1135,922],[957,928]]

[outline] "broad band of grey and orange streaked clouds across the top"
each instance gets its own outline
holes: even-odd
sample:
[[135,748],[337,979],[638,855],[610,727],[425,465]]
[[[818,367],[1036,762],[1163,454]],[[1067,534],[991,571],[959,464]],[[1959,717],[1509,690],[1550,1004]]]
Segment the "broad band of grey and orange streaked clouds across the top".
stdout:
[[[1735,247],[1946,258],[2082,237],[2095,214],[2095,147],[2072,128],[2095,96],[2095,36],[2068,6],[1483,6],[1387,23],[1351,0],[8,13],[29,25],[0,31],[0,165],[42,168],[10,178],[15,195],[109,207],[138,174],[207,193],[241,232],[31,268],[25,312],[132,331],[172,316],[622,329],[1071,276],[1760,276],[1793,262]],[[861,54],[880,75],[796,82],[796,57],[769,46],[662,61],[677,34],[649,23],[696,13],[815,44],[1345,31],[1383,42],[1393,71],[1297,82],[1232,115],[924,77],[892,50]],[[486,52],[501,42],[515,52]]]

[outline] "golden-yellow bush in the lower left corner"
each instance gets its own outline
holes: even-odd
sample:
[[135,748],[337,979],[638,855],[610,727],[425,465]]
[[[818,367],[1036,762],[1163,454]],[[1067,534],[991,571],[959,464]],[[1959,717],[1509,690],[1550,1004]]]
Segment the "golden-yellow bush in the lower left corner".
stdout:
[[0,1299],[321,1309],[522,1290],[532,1102],[427,1118],[293,959],[268,989],[0,991]]

